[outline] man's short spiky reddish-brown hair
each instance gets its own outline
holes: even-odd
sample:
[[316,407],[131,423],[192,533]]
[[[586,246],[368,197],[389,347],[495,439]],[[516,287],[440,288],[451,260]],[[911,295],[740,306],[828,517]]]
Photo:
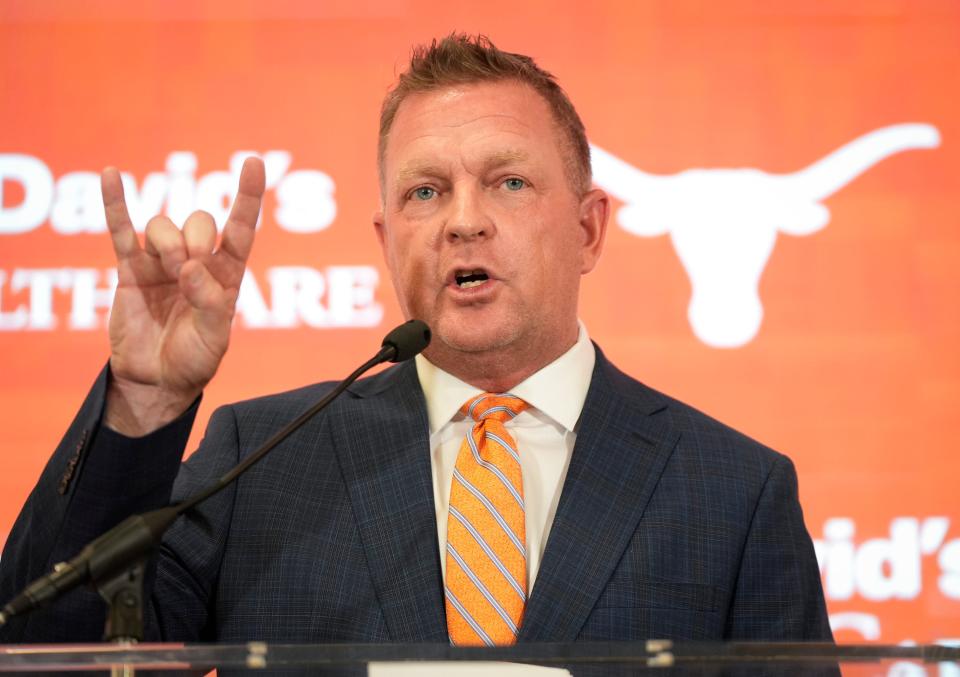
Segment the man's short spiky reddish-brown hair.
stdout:
[[381,188],[385,185],[383,161],[387,138],[400,104],[410,94],[431,92],[452,85],[515,80],[531,86],[550,108],[553,119],[566,139],[566,171],[574,189],[590,189],[590,146],[583,121],[554,76],[523,54],[504,52],[484,35],[472,37],[451,33],[440,41],[413,48],[407,70],[387,93],[380,109],[380,140],[377,163]]

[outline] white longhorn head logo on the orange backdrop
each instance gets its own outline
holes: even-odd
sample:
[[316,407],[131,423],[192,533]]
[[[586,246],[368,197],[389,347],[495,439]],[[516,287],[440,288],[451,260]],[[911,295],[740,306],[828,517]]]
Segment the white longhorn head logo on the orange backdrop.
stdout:
[[815,233],[830,220],[822,200],[894,153],[939,143],[932,125],[892,125],[791,174],[689,169],[669,176],[590,148],[594,181],[625,203],[617,213],[620,226],[644,237],[670,233],[693,287],[687,315],[697,338],[736,348],[760,329],[758,285],[777,232]]

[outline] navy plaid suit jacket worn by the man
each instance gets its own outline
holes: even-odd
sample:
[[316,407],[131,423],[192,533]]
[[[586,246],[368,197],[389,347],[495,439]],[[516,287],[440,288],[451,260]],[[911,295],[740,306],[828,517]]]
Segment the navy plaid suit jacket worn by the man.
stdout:
[[[101,375],[7,542],[0,597],[126,515],[212,482],[332,384],[195,410],[140,440],[99,427]],[[148,635],[446,642],[428,423],[412,362],[359,381],[168,532]],[[76,590],[0,639],[98,641]],[[790,461],[597,353],[520,641],[829,640]]]

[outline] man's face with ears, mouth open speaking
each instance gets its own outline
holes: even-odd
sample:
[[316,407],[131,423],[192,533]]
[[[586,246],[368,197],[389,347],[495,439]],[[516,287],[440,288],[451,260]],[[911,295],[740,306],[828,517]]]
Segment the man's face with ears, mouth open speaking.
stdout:
[[539,368],[576,340],[607,199],[573,189],[567,153],[547,103],[518,82],[400,105],[374,225],[404,315],[433,330],[434,363],[502,355]]

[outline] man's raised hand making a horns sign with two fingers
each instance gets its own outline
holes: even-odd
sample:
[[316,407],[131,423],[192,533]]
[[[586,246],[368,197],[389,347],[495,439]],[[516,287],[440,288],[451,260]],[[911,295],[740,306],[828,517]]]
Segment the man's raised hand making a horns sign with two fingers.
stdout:
[[105,169],[101,185],[118,275],[104,423],[138,437],[182,414],[226,353],[260,215],[264,168],[259,158],[244,163],[216,248],[216,224],[201,211],[191,214],[182,230],[165,216],[153,217],[141,247],[120,173]]

